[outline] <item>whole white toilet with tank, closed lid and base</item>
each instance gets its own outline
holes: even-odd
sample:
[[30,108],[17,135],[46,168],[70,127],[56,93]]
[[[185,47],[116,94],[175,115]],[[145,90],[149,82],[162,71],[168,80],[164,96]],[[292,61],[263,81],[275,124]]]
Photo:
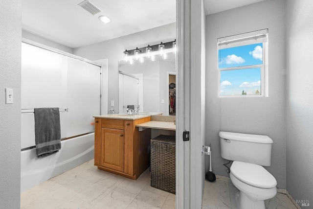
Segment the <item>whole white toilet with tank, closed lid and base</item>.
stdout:
[[230,180],[239,189],[238,209],[265,209],[264,200],[276,193],[276,179],[263,167],[270,166],[273,140],[264,135],[221,131],[222,158],[233,161]]

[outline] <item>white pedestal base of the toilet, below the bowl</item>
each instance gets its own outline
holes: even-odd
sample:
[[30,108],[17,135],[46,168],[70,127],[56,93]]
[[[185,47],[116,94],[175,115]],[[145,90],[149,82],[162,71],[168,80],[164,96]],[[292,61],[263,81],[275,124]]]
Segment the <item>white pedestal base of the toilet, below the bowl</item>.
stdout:
[[235,197],[238,209],[265,209],[264,200],[252,201],[242,191],[238,191]]

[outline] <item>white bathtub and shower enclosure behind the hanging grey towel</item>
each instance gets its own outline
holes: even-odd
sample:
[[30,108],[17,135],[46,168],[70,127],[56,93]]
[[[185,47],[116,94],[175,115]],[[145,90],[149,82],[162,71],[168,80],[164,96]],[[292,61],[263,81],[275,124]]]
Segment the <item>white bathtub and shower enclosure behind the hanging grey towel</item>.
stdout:
[[[91,61],[23,42],[21,192],[93,158],[92,116],[101,114],[102,80]],[[58,153],[38,159],[33,109],[43,107],[60,108],[62,142]]]

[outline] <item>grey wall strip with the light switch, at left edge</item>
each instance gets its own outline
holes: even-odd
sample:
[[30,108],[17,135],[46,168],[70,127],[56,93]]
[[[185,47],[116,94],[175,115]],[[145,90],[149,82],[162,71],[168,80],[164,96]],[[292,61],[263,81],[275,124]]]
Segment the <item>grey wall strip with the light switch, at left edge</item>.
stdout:
[[[20,208],[22,1],[0,1],[0,208]],[[12,88],[13,104],[4,89]]]

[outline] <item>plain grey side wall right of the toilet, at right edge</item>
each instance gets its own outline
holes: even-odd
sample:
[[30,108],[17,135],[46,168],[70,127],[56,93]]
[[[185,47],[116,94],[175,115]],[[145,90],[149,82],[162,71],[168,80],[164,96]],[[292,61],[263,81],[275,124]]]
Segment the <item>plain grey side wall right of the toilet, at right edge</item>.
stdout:
[[[287,190],[313,205],[313,1],[287,0]],[[299,204],[301,206],[301,204]],[[309,208],[309,207],[303,207]]]

